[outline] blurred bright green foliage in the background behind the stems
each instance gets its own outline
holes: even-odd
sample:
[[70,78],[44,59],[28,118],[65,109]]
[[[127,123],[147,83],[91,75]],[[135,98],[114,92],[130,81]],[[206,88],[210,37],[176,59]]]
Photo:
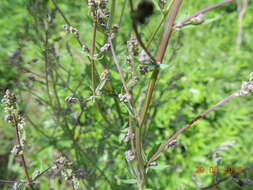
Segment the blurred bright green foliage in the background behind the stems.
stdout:
[[[145,42],[161,17],[158,1],[154,2],[155,14],[148,24],[140,26]],[[177,20],[213,3],[217,1],[184,1]],[[59,6],[71,24],[80,31],[81,40],[90,47],[92,19],[86,1],[59,1]],[[116,3],[113,23],[119,23],[121,19],[115,40],[116,53],[122,67],[127,70],[124,56],[129,52],[125,44],[133,31],[128,2],[125,8],[123,6],[124,1]],[[77,168],[84,171],[80,179],[83,189],[137,189],[129,173],[130,166],[124,158],[127,145],[122,137],[126,133],[128,115],[126,107],[121,103],[121,121],[115,108],[115,97],[122,92],[122,88],[111,55],[107,52],[96,62],[99,74],[104,70],[104,65],[111,70],[114,86],[113,92],[103,91],[98,98],[101,107],[92,101],[72,106],[67,104],[64,99],[70,95],[79,99],[91,95],[89,59],[74,36],[63,30],[65,22],[57,11],[53,13],[55,18],[52,24],[45,26],[45,19],[49,19],[48,14],[53,11],[52,1],[2,0],[0,3],[1,97],[5,89],[13,89],[20,107],[26,112],[25,155],[30,173],[42,171],[60,155],[66,155]],[[174,31],[163,63],[170,66],[161,71],[147,119],[148,132],[144,139],[146,155],[198,113],[238,90],[241,82],[248,79],[249,73],[253,71],[252,16],[253,3],[249,1],[243,19],[240,49],[236,48],[238,15],[235,3],[208,12],[204,15],[203,24]],[[54,76],[49,80],[57,83],[57,86],[50,86],[51,99],[43,78],[47,72],[43,54],[45,27],[49,27],[48,43],[52,45],[46,48],[52,48],[50,50],[57,54],[50,55],[53,63],[50,69],[54,70]],[[152,43],[152,52],[155,52],[161,33],[162,30]],[[105,40],[103,30],[99,29],[97,51]],[[139,81],[134,96],[139,100],[139,109],[145,97],[144,86],[148,84],[149,75],[140,75],[138,66],[135,69]],[[52,109],[54,106],[56,108]],[[253,161],[252,106],[252,96],[237,98],[186,130],[179,136],[177,145],[160,156],[158,166],[148,170],[146,190],[198,189],[199,185],[206,186],[227,176],[222,171],[226,166],[246,167]],[[76,124],[80,112],[82,114],[78,119],[81,123]],[[109,121],[105,121],[100,112],[104,112]],[[0,126],[1,158],[1,155],[10,152],[15,143],[15,133],[3,119],[0,120]],[[225,146],[224,142],[232,145]],[[215,154],[219,147],[224,150]],[[217,155],[222,159],[218,165],[220,172],[213,175],[208,170],[217,165]],[[198,166],[204,167],[205,172],[196,173]],[[2,178],[24,179],[17,159],[10,157],[7,168]],[[241,177],[253,179],[252,169]],[[55,176],[49,178],[45,175],[39,182],[42,190],[71,189],[70,185]],[[5,185],[3,188],[9,189],[10,186]],[[217,189],[249,190],[252,185],[239,186],[230,180],[220,184]]]

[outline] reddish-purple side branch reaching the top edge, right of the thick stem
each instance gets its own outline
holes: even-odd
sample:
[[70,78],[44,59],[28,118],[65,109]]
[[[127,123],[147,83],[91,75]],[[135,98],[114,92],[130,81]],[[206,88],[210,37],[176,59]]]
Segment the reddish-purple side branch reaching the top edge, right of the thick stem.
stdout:
[[193,19],[193,18],[195,18],[195,17],[197,17],[197,16],[199,16],[199,15],[201,15],[201,14],[205,14],[205,13],[208,12],[208,11],[211,11],[211,10],[213,10],[213,9],[222,7],[222,6],[224,6],[224,5],[228,4],[228,3],[231,3],[231,2],[233,2],[233,1],[235,1],[235,0],[225,0],[225,1],[222,1],[222,2],[220,2],[220,3],[211,5],[210,7],[201,9],[201,10],[197,11],[196,13],[194,13],[194,14],[192,14],[192,15],[190,15],[190,16],[184,18],[184,19],[182,19],[181,21],[177,22],[176,24],[174,24],[174,25],[173,25],[173,28],[180,27],[180,26],[182,26],[184,23],[190,21],[191,19]]

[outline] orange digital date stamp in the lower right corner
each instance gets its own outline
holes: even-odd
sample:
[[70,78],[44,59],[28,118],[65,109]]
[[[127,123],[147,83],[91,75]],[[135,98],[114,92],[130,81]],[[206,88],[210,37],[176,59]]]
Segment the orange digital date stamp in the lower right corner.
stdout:
[[240,166],[196,166],[194,173],[201,174],[201,173],[210,173],[210,174],[217,174],[217,173],[224,173],[224,174],[240,174],[243,172],[243,168]]

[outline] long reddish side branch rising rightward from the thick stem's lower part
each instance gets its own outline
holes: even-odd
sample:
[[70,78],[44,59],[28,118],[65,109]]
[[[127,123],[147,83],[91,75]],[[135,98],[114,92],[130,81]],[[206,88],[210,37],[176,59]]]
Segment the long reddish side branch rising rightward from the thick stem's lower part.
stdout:
[[197,117],[195,117],[193,120],[191,120],[189,123],[185,124],[182,128],[180,128],[174,135],[172,135],[163,145],[160,146],[160,148],[155,152],[155,154],[153,154],[153,156],[149,159],[149,161],[147,162],[146,166],[149,166],[149,164],[153,161],[155,161],[159,155],[174,141],[176,140],[176,138],[182,133],[184,132],[187,128],[189,128],[192,124],[194,124],[195,122],[197,122],[198,120],[200,120],[201,118],[203,118],[205,115],[207,115],[209,112],[213,111],[214,109],[220,107],[221,105],[223,105],[224,103],[228,102],[229,100],[237,97],[239,95],[239,91],[234,92],[233,94],[231,94],[230,96],[224,98],[223,100],[221,100],[220,102],[218,102],[217,104],[213,105],[212,107],[210,107],[209,109],[207,109],[206,111],[202,112],[201,114],[199,114]]

